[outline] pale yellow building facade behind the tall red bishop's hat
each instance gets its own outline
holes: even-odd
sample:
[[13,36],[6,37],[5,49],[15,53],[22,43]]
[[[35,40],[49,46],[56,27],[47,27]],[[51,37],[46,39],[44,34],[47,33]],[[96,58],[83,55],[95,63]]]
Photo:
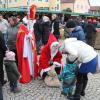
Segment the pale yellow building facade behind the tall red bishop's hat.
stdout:
[[[4,0],[3,0],[4,1]],[[60,0],[30,0],[30,5],[35,4],[38,9],[60,10]],[[27,0],[5,0],[4,8],[26,8]]]

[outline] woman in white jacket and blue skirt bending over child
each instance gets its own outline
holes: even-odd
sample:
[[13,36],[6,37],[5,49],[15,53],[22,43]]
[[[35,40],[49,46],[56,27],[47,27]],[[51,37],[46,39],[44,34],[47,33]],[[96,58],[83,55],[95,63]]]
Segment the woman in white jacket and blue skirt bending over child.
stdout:
[[79,74],[77,75],[76,90],[71,100],[80,100],[80,95],[85,95],[87,84],[87,74],[95,73],[98,63],[97,53],[93,47],[77,40],[76,38],[68,38],[64,41],[63,52],[67,53],[69,61],[77,59],[79,62]]

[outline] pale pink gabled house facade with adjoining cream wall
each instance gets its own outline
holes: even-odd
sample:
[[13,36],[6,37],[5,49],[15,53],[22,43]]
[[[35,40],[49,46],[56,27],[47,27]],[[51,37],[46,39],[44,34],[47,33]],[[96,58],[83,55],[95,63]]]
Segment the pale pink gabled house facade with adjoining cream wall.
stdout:
[[88,13],[89,0],[61,0],[61,10],[70,8],[72,12]]

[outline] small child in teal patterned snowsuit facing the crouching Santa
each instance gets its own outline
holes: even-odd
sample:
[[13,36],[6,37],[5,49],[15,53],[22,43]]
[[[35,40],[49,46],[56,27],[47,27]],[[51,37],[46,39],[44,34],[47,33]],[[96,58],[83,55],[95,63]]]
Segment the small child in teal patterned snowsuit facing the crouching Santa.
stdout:
[[61,94],[67,95],[69,98],[72,96],[73,88],[76,81],[76,74],[78,72],[77,64],[73,62],[67,62],[59,75],[59,80],[62,81],[62,92]]

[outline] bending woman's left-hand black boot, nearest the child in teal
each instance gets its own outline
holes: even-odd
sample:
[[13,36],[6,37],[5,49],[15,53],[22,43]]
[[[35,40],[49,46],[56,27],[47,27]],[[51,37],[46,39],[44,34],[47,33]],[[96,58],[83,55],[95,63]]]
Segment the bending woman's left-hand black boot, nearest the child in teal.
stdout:
[[73,95],[73,97],[70,97],[69,100],[80,100],[80,94],[82,91],[82,87],[83,87],[83,84],[77,84],[75,94]]

